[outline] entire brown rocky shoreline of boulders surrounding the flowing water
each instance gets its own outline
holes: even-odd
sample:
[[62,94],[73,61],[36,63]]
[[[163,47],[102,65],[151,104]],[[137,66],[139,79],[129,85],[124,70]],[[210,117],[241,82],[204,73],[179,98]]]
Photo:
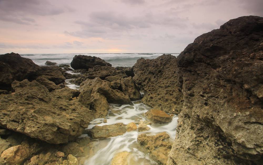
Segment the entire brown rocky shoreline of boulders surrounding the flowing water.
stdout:
[[[164,54],[112,67],[76,55],[74,71],[46,65],[16,53],[0,55],[0,164],[84,164],[95,139],[147,131],[149,124],[171,122],[169,114],[179,117],[173,143],[165,132],[137,138],[157,164],[263,161],[262,17],[232,19],[196,38],[178,58]],[[66,79],[79,90],[65,86]],[[140,99],[153,108],[145,113],[150,122],[86,129],[107,117],[109,104]],[[112,164],[127,164],[129,157],[120,152]]]

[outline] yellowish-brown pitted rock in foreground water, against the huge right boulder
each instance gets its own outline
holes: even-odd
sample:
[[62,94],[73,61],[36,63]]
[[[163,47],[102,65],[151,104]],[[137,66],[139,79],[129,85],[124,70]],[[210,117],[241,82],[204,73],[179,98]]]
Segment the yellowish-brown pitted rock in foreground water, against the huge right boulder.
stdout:
[[169,135],[166,132],[159,133],[154,136],[141,134],[137,137],[139,145],[150,153],[150,157],[158,164],[166,164],[168,153],[172,148],[172,143],[169,141]]

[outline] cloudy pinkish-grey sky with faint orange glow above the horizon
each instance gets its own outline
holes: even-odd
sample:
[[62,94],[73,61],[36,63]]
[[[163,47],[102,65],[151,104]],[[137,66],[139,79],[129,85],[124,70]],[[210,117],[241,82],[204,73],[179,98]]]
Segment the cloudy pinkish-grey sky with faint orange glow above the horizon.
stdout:
[[0,0],[0,54],[180,53],[262,0]]

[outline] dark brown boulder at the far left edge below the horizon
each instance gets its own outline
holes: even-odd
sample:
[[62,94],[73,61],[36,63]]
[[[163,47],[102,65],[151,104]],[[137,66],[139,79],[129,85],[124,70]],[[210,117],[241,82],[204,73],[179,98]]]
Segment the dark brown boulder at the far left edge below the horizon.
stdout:
[[0,89],[11,90],[11,83],[30,78],[39,69],[31,59],[17,53],[0,55]]

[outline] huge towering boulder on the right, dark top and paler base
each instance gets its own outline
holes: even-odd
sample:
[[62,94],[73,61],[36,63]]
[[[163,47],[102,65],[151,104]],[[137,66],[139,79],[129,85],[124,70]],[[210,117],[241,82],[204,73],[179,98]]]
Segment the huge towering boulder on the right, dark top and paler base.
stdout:
[[184,105],[168,164],[260,164],[263,18],[232,19],[178,56]]

